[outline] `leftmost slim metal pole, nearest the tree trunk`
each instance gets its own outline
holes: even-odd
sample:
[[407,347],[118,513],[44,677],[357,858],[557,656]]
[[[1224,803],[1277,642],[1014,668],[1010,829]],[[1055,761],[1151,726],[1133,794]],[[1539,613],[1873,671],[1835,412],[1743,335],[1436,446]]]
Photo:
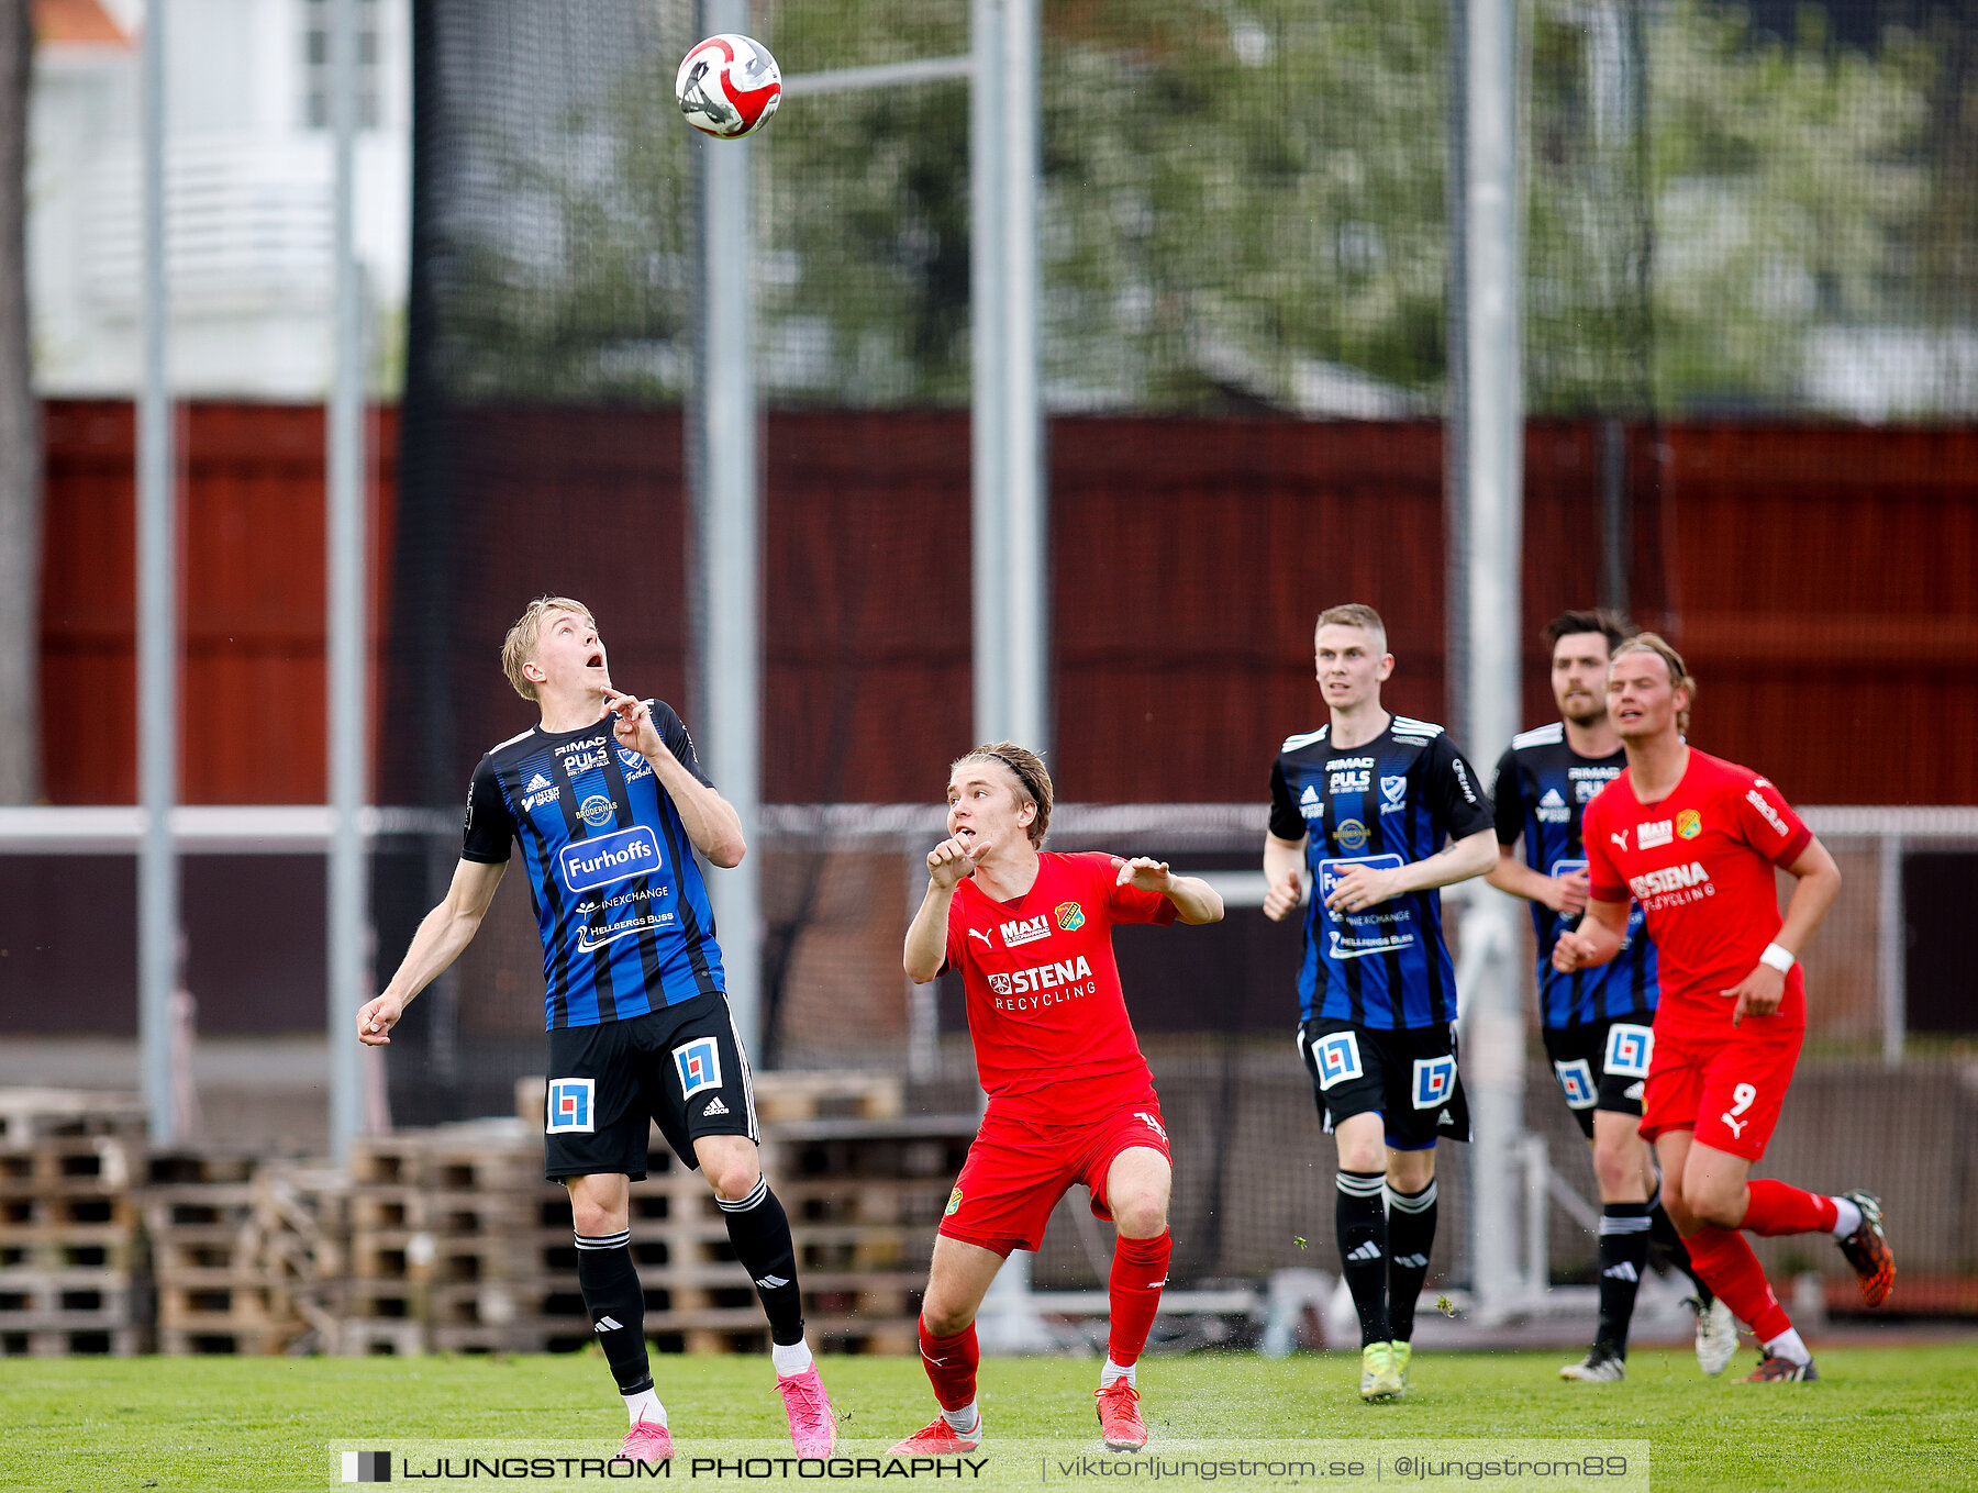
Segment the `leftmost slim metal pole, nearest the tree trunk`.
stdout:
[[138,1046],[150,1137],[170,1145],[170,1009],[178,989],[178,850],[172,807],[178,797],[178,502],[174,492],[172,399],[166,384],[164,283],[164,26],[166,0],[144,10],[142,83],[142,267],[144,342],[136,419],[136,678],[138,801]]

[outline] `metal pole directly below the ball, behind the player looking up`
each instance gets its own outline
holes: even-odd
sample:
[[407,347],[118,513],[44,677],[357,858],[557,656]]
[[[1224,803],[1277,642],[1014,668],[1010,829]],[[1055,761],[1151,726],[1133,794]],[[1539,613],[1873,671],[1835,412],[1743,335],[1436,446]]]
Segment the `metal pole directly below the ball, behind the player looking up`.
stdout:
[[[748,0],[702,0],[700,32],[748,32]],[[748,140],[694,138],[700,216],[700,346],[692,433],[698,724],[708,777],[742,817],[750,852],[708,876],[728,1007],[762,1046],[762,599],[756,417],[754,214]]]

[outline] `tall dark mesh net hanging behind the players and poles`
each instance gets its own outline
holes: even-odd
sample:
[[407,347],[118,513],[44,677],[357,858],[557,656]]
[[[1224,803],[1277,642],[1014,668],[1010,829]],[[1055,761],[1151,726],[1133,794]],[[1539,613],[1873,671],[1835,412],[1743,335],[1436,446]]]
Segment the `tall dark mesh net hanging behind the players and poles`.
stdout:
[[[494,672],[528,595],[589,599],[621,682],[694,724],[698,146],[671,79],[698,26],[684,0],[415,14],[386,791],[451,807],[530,720]],[[955,57],[967,24],[965,0],[752,18],[787,77]],[[1066,801],[1179,805],[1092,844],[1254,866],[1270,755],[1319,722],[1323,603],[1381,607],[1389,704],[1450,716],[1460,63],[1438,4],[1042,6],[1050,761]],[[1929,0],[1541,0],[1521,67],[1525,635],[1567,605],[1632,607],[1705,678],[1695,740],[1798,803],[1978,801],[1970,753],[1944,746],[1978,732],[1978,26]],[[762,842],[760,1056],[910,1070],[924,1107],[971,1101],[953,993],[930,1022],[898,975],[924,807],[971,742],[967,87],[793,89],[752,146],[762,789],[783,807]],[[1523,706],[1549,710],[1535,651]],[[1484,767],[1501,749],[1462,746]],[[1205,840],[1201,805],[1254,819]],[[1970,886],[1954,860],[1929,884]],[[437,846],[429,898],[449,862]],[[508,888],[413,1007],[402,1117],[506,1107],[538,1062],[522,902]],[[382,959],[405,935],[388,927]],[[1177,1279],[1325,1256],[1329,1161],[1286,1040],[1296,939],[1254,908],[1122,939],[1197,1147]],[[1535,1125],[1559,1119],[1547,1084]],[[1553,1155],[1580,1165],[1559,1137]],[[1054,1238],[1040,1275],[1090,1281],[1076,1224]]]

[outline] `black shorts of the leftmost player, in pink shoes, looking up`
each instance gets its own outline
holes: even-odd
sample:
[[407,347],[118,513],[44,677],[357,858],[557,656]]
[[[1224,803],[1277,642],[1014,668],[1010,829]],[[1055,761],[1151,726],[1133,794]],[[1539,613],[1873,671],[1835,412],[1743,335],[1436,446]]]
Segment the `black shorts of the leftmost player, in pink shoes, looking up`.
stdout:
[[542,1175],[645,1179],[657,1121],[688,1167],[700,1135],[756,1129],[756,1088],[728,999],[696,995],[665,1010],[550,1032],[542,1096]]

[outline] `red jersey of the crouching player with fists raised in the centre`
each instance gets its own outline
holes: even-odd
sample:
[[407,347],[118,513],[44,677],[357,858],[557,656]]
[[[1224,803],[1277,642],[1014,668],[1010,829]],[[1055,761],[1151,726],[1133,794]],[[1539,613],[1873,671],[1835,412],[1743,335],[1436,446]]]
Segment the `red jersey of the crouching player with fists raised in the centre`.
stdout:
[[989,1111],[1048,1125],[1100,1119],[1153,1096],[1125,1014],[1114,923],[1171,923],[1159,892],[1116,886],[1108,854],[1036,858],[1036,882],[995,902],[973,878],[947,904],[947,967],[967,987]]

